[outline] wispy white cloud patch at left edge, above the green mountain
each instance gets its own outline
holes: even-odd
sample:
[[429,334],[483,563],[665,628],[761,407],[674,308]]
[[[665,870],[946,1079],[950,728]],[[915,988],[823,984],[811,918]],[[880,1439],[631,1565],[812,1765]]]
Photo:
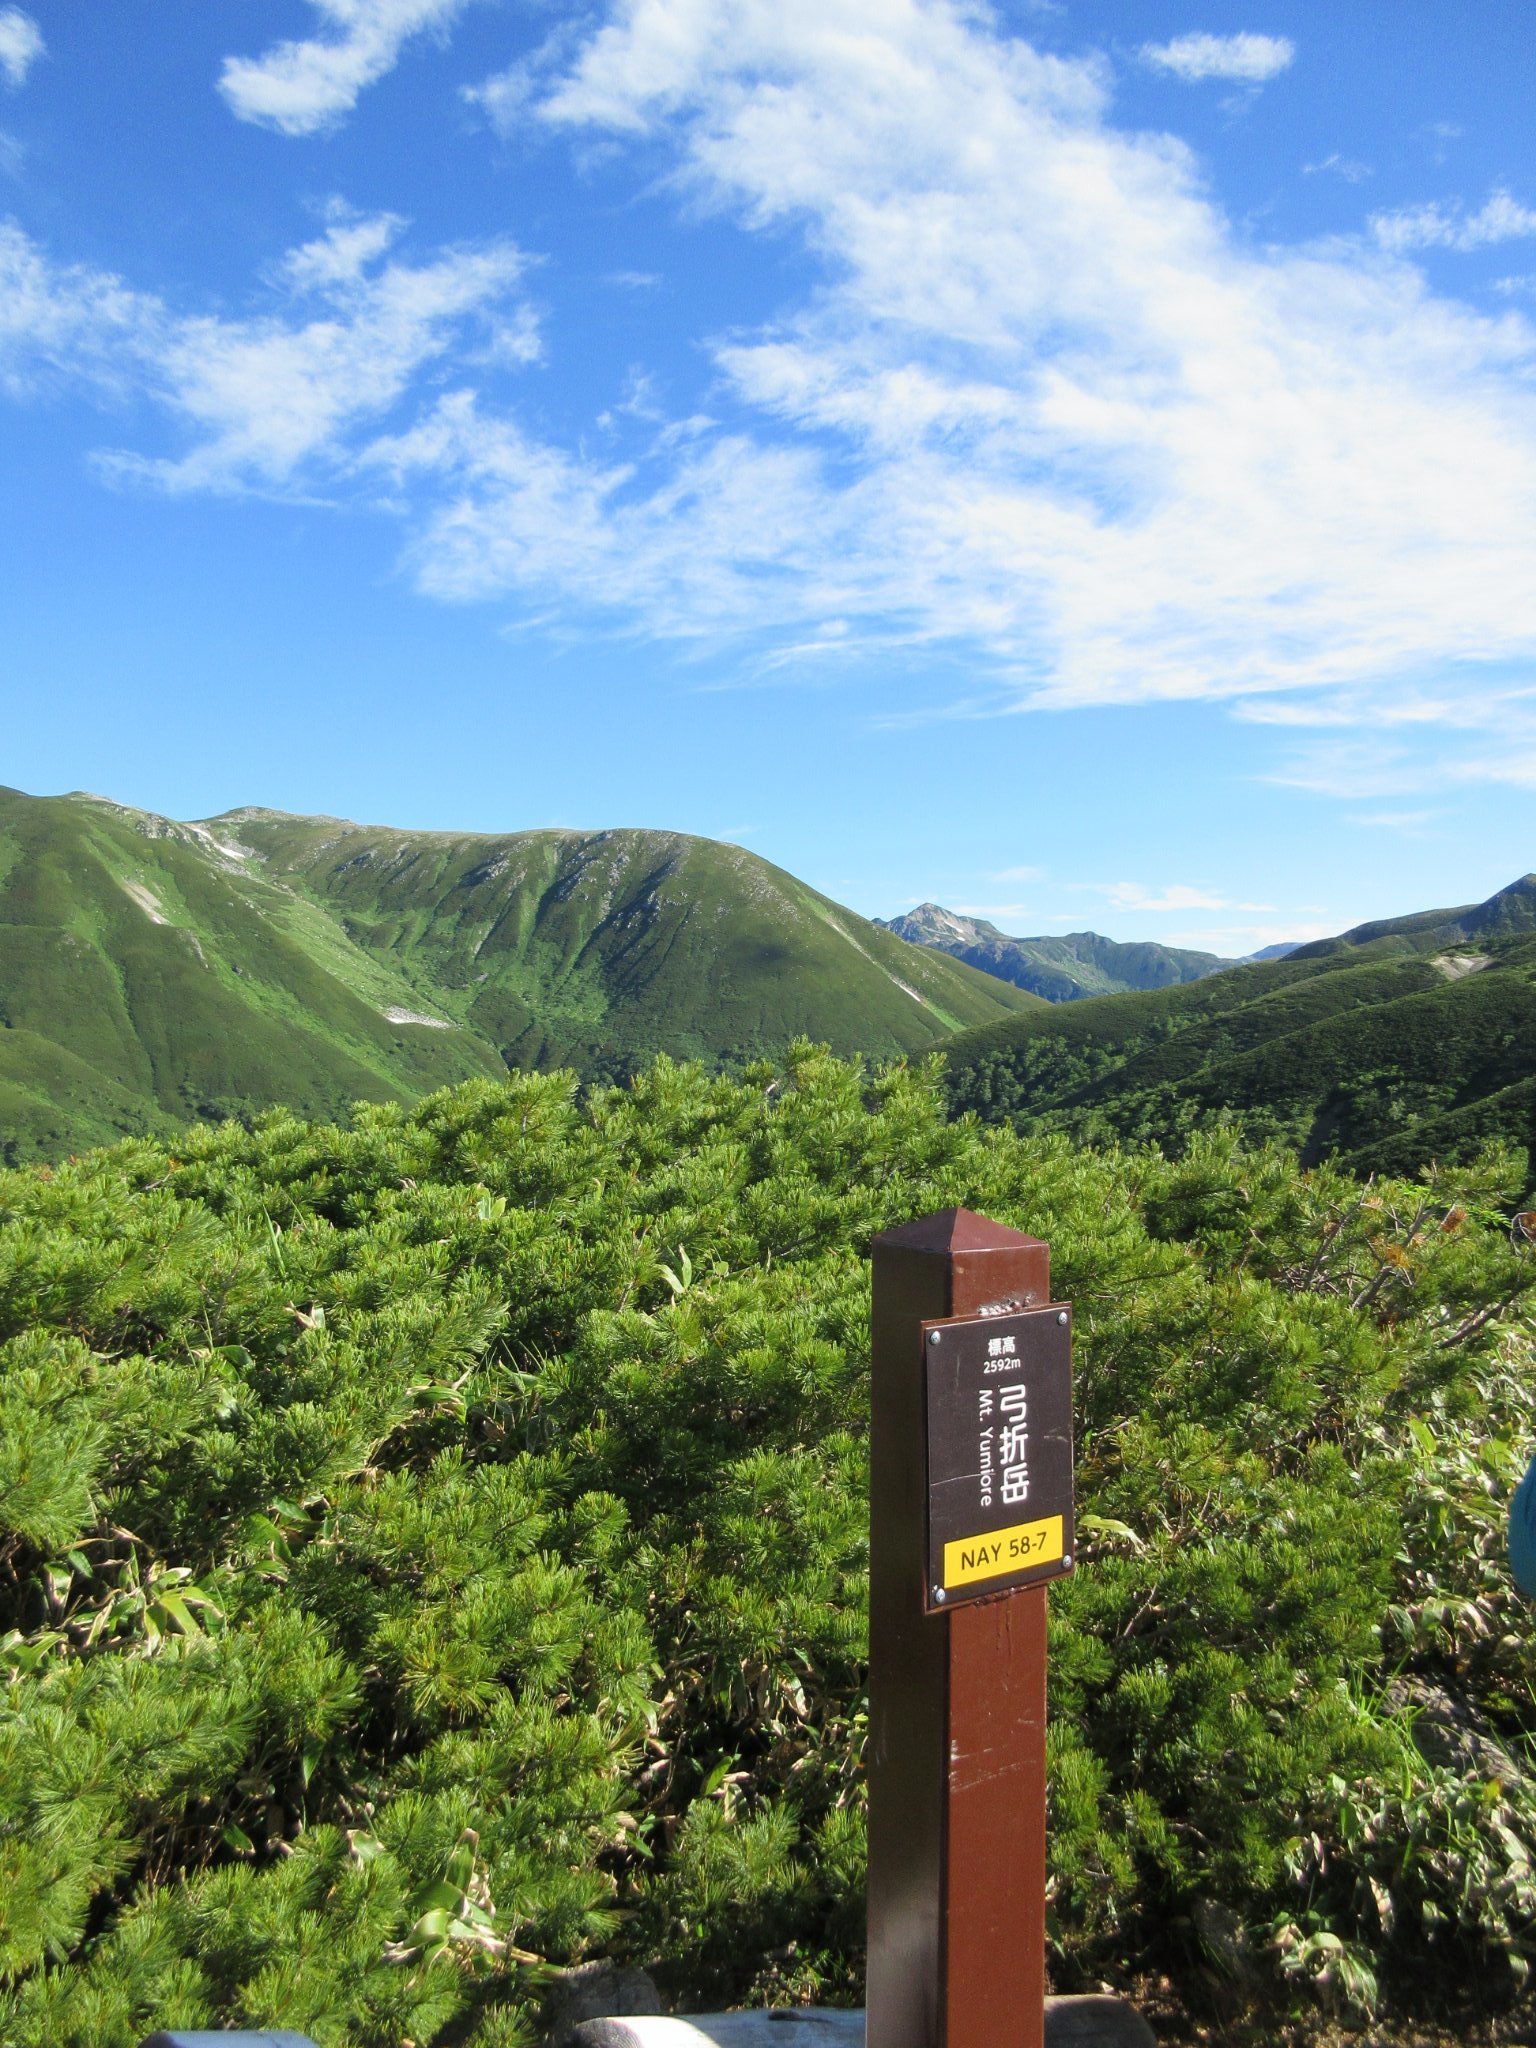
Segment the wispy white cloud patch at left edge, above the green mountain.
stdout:
[[313,489],[352,469],[360,438],[475,326],[494,344],[516,324],[514,248],[410,264],[389,256],[401,227],[332,209],[326,233],[276,268],[274,309],[248,319],[176,313],[0,227],[0,381],[84,377],[156,399],[182,453],[109,453],[111,475],[172,492]]

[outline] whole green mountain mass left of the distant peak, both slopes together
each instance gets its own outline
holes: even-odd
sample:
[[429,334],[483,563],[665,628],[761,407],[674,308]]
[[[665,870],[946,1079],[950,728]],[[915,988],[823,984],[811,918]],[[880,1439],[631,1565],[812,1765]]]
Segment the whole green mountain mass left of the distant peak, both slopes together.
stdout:
[[0,1159],[508,1065],[926,1051],[1030,999],[735,846],[0,791]]

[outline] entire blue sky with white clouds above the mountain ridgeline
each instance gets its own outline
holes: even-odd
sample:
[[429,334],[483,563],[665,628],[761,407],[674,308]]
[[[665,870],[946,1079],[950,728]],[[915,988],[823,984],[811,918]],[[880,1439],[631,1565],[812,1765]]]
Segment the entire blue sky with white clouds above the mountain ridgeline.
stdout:
[[1485,0],[0,4],[0,778],[1247,950],[1536,866]]

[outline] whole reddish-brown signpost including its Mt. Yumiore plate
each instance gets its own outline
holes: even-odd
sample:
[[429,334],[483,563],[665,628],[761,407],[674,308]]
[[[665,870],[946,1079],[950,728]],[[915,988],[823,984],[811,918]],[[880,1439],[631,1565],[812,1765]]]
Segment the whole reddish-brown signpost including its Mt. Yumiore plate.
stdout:
[[1042,2048],[1044,1602],[1071,1311],[967,1208],[874,1239],[868,2048]]

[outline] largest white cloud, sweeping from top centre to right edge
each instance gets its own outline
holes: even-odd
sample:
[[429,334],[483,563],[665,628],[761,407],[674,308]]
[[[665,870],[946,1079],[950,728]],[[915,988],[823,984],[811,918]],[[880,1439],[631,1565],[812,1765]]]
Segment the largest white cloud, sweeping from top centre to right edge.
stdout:
[[[963,715],[1536,653],[1532,328],[1370,244],[1255,250],[1096,66],[948,0],[616,0],[518,109],[659,145],[823,283],[713,342],[725,426],[623,473],[465,403],[426,588],[580,608],[596,573],[657,635],[944,641],[1006,686]],[[567,537],[522,465],[578,494]]]

